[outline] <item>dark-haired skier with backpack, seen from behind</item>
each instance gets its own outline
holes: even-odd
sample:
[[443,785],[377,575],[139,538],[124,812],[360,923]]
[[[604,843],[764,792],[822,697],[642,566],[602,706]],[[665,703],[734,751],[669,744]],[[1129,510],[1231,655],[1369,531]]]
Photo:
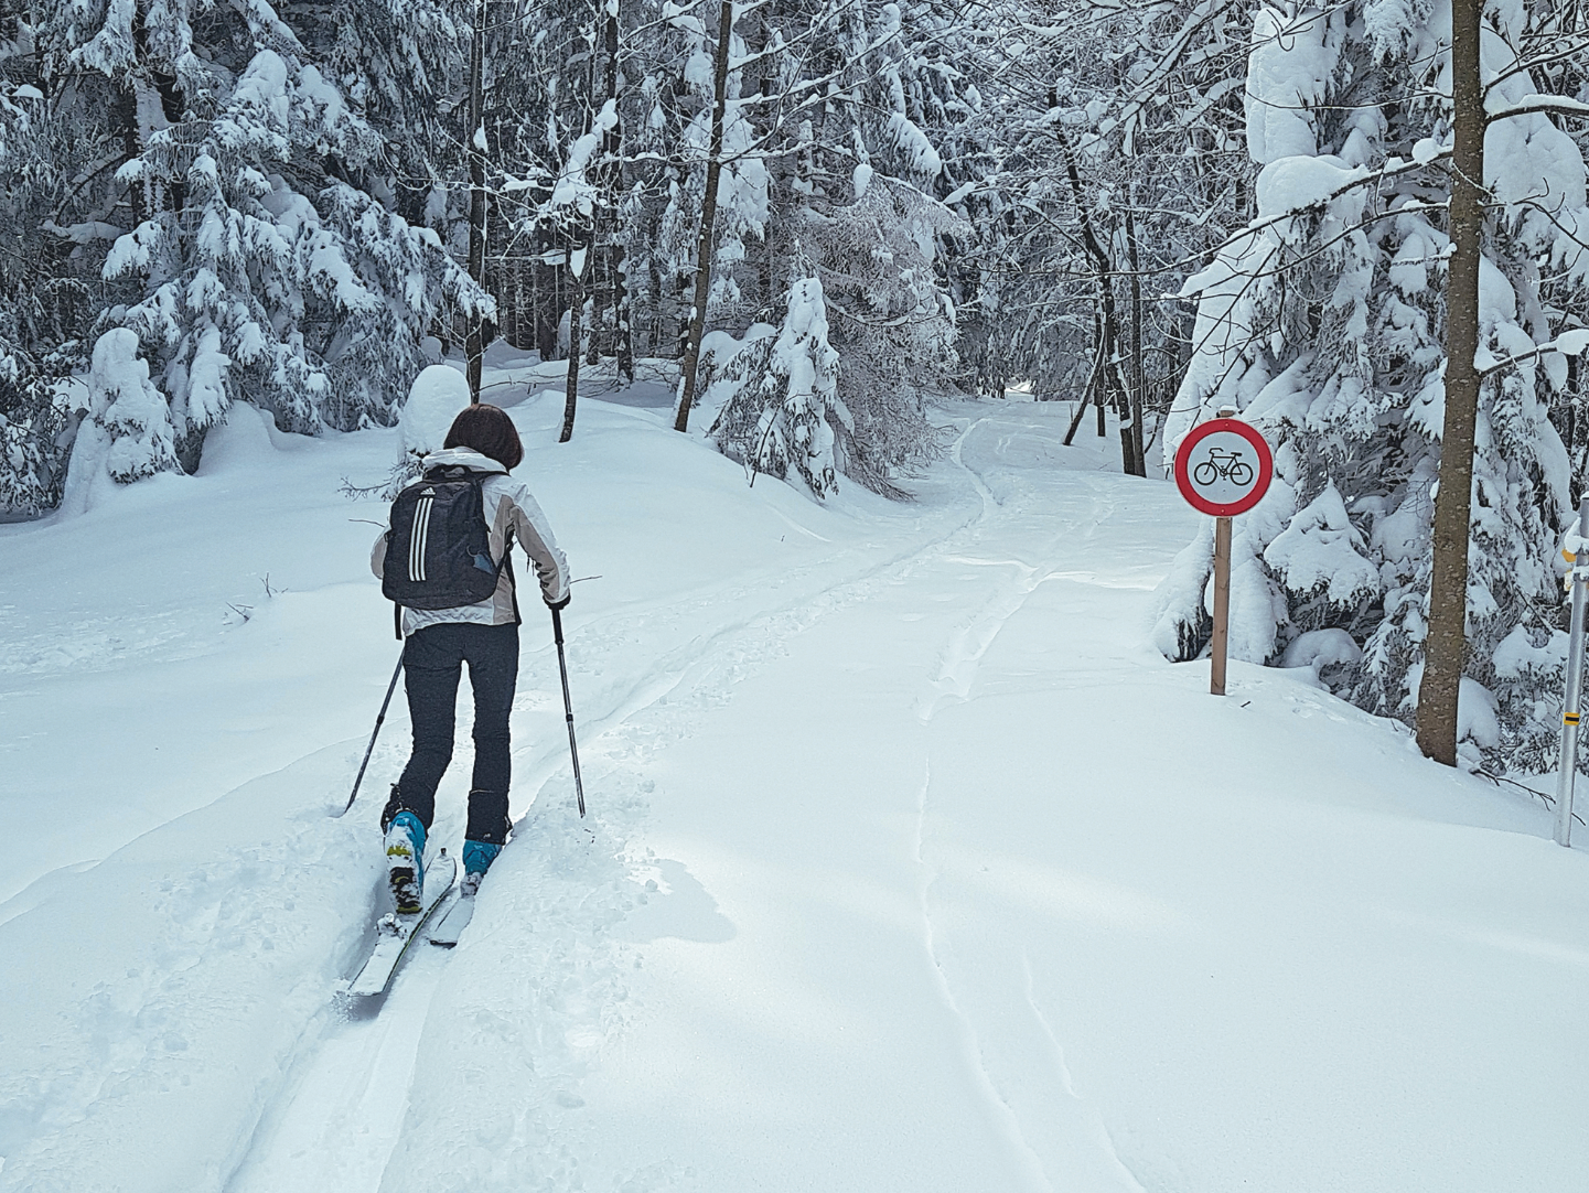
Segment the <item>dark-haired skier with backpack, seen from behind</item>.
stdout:
[[[508,712],[518,678],[520,623],[510,559],[515,539],[535,569],[547,605],[561,610],[569,604],[569,566],[551,537],[547,516],[524,483],[508,477],[523,458],[518,430],[505,411],[486,403],[467,407],[453,419],[443,450],[424,458],[424,477],[405,486],[405,494],[410,489],[421,494],[418,526],[415,496],[408,494],[405,502],[399,494],[388,529],[375,540],[370,554],[370,567],[385,581],[383,591],[400,604],[404,686],[413,721],[413,753],[381,812],[388,877],[399,912],[419,910],[424,837],[435,815],[437,783],[453,758],[453,708],[464,662],[469,664],[469,686],[475,697],[475,770],[462,858],[466,894],[480,886],[507,842]],[[478,508],[488,539],[480,531],[478,518],[472,516],[474,507],[461,504],[472,496],[469,489],[474,486],[478,486]],[[456,534],[456,523],[443,519],[434,507],[448,494],[459,492],[456,508],[470,512],[474,526],[469,529],[480,534],[489,551],[491,572],[483,581],[475,575],[472,583],[477,591],[483,583],[489,596],[442,608],[402,604],[404,593],[416,604],[437,604],[412,596],[418,591],[412,585],[402,588],[402,583],[427,578],[427,559],[432,591],[440,594],[440,600],[448,599],[448,545],[442,539],[450,527]],[[477,554],[474,564],[483,570],[486,561]],[[489,588],[493,573],[494,589]]]

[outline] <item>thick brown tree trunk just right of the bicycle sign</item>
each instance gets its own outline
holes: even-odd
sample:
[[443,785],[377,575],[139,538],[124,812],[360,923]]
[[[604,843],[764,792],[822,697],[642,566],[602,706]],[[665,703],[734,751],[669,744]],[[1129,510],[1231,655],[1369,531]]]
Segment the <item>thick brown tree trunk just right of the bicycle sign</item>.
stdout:
[[1479,261],[1484,251],[1484,87],[1479,37],[1484,0],[1451,5],[1451,241],[1446,275],[1446,424],[1429,588],[1424,678],[1417,686],[1417,747],[1457,764],[1457,696],[1467,661],[1468,534],[1473,435],[1479,408]]

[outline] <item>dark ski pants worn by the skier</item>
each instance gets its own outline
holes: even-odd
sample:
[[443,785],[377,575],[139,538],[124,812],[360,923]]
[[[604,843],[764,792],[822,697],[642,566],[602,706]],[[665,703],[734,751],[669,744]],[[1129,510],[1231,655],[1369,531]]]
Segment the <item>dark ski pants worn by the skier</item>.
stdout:
[[507,788],[512,778],[507,716],[518,681],[518,626],[443,621],[416,629],[402,650],[404,688],[413,721],[413,753],[381,813],[381,829],[399,812],[413,812],[426,831],[435,817],[435,786],[453,761],[458,680],[469,664],[475,694],[475,774],[469,790],[469,840],[507,840]]

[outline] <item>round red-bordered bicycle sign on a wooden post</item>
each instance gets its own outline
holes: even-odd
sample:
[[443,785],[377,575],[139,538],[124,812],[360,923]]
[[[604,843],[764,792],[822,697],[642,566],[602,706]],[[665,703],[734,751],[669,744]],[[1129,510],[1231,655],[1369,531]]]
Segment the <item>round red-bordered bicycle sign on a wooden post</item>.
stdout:
[[1230,519],[1268,492],[1274,458],[1263,435],[1233,410],[1187,432],[1176,451],[1176,486],[1187,504],[1214,521],[1214,634],[1209,639],[1208,689],[1225,694],[1225,651],[1230,643]]

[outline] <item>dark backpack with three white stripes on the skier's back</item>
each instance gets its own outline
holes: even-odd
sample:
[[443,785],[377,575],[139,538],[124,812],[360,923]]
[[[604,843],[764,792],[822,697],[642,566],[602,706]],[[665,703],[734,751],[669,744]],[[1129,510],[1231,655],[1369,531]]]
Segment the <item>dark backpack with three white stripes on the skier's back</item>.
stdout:
[[491,477],[459,465],[431,469],[392,502],[381,593],[408,608],[458,608],[496,593],[512,575],[512,540],[491,562],[491,527],[480,492]]

